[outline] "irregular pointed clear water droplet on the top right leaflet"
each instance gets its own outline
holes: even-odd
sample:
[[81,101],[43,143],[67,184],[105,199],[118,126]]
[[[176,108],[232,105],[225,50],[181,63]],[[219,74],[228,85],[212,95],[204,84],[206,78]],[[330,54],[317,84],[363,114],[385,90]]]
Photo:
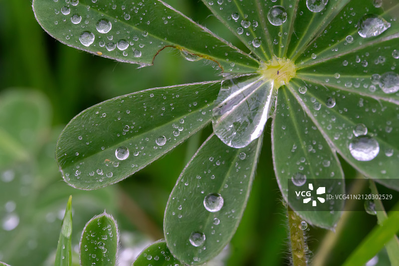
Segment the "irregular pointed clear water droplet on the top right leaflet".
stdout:
[[378,36],[386,31],[391,23],[375,14],[367,14],[363,16],[358,24],[358,33],[363,38]]

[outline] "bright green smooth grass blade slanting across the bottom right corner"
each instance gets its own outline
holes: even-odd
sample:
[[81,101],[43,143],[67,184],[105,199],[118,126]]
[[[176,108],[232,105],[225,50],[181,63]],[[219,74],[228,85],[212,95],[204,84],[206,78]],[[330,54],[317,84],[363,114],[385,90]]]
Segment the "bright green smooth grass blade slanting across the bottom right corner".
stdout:
[[384,245],[388,243],[399,231],[399,204],[388,215],[388,219],[382,225],[376,227],[366,236],[346,260],[344,266],[363,266],[373,258]]

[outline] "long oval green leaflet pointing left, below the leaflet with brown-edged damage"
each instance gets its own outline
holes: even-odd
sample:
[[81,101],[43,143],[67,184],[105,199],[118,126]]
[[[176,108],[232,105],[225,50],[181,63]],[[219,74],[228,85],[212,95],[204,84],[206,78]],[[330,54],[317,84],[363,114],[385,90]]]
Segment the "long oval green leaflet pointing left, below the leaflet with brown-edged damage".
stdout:
[[84,110],[57,143],[64,180],[90,190],[131,176],[206,125],[219,89],[219,81],[155,88]]

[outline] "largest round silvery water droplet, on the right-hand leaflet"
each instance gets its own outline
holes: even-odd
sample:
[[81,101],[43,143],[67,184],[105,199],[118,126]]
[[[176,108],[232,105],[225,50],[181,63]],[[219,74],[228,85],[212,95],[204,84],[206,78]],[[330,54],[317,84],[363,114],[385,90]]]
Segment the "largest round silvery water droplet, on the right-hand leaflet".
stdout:
[[349,144],[349,151],[358,161],[371,161],[380,152],[377,140],[369,136],[356,137]]

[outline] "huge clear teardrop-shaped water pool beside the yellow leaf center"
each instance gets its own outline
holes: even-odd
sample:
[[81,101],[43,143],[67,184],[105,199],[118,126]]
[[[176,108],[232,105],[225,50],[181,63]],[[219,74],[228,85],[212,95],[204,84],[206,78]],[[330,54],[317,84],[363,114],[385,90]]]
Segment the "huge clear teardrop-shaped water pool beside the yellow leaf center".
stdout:
[[213,131],[226,145],[242,148],[263,132],[273,97],[273,81],[241,75],[222,81],[212,113]]

